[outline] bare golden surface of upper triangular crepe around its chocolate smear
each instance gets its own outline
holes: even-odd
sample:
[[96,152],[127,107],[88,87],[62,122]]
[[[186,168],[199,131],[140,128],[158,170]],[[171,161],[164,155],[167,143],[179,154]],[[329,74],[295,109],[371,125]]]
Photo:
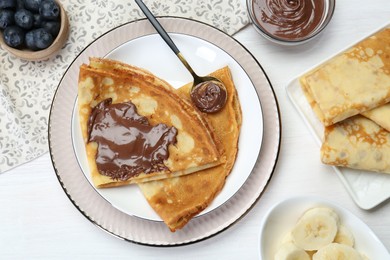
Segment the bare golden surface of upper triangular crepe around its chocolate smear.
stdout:
[[[117,64],[118,67],[112,64]],[[172,87],[156,76],[133,66],[126,69],[115,61],[92,59],[91,66],[82,65],[79,75],[79,120],[85,140],[87,159],[96,187],[112,187],[151,181],[196,172],[221,163],[209,126],[201,114],[184,102]],[[110,67],[111,70],[104,67]],[[100,101],[112,98],[113,103],[131,101],[140,115],[151,125],[159,123],[177,128],[177,143],[169,145],[168,170],[140,173],[127,180],[118,180],[98,172],[95,156],[98,145],[89,142],[87,122],[92,108]]]

